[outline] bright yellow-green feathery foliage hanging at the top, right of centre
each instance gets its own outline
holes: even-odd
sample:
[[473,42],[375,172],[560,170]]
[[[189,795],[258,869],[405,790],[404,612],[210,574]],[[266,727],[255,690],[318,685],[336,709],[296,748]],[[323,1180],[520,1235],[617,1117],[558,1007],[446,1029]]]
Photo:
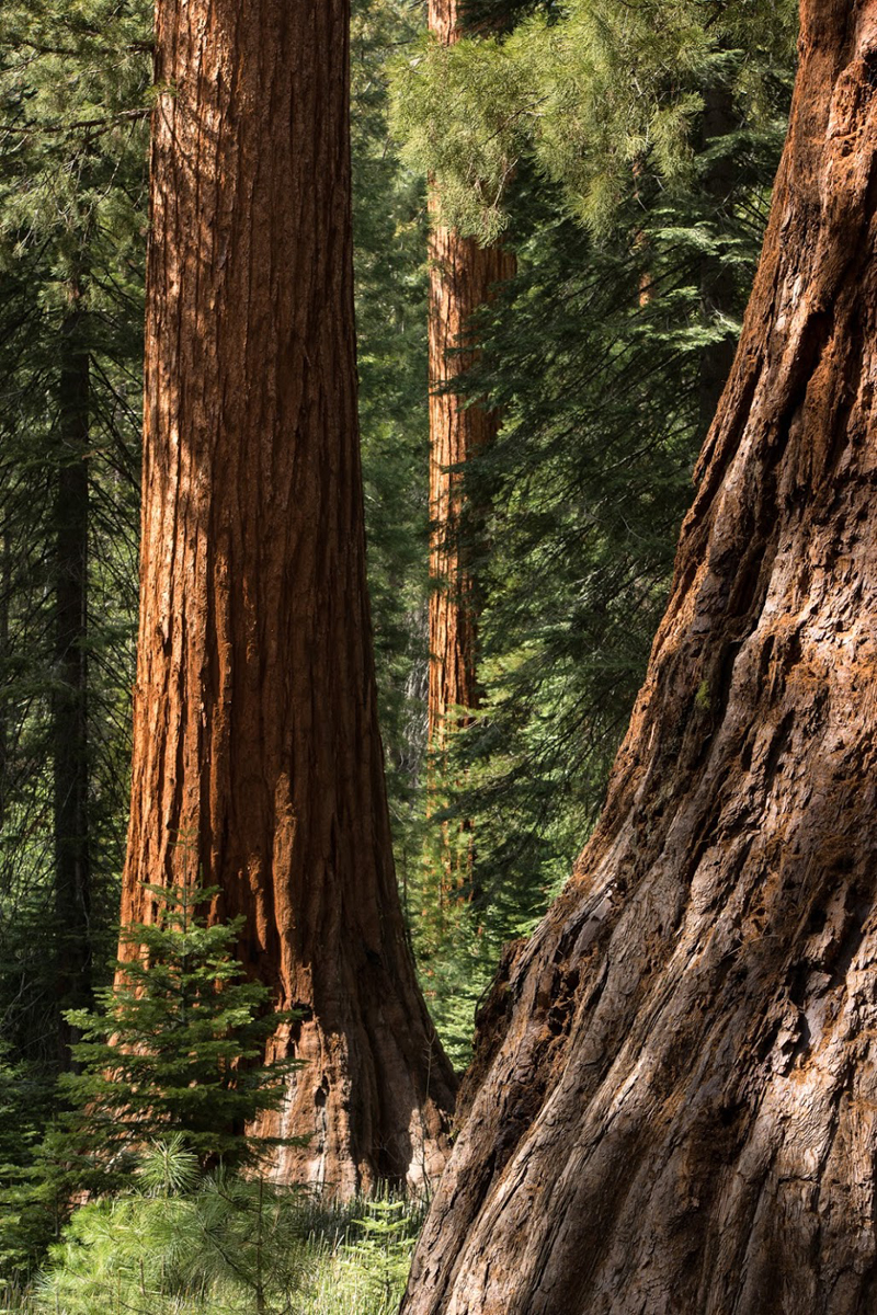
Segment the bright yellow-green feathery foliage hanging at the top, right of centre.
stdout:
[[571,0],[510,33],[429,38],[401,57],[394,128],[463,231],[497,235],[529,159],[602,233],[643,175],[690,183],[707,87],[732,87],[753,121],[772,113],[795,21],[792,0]]

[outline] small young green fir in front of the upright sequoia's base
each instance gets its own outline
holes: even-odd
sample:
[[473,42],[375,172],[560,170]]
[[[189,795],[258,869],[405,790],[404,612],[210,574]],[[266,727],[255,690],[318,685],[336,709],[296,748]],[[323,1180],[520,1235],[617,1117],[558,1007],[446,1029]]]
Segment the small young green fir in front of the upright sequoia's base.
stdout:
[[241,922],[199,917],[214,892],[147,889],[155,920],[125,930],[131,957],[117,984],[97,992],[97,1011],[68,1013],[83,1038],[78,1070],[53,1090],[38,1065],[0,1065],[7,1276],[33,1272],[83,1193],[126,1189],[150,1140],[137,1172],[159,1197],[191,1187],[202,1165],[254,1165],[277,1144],[246,1126],[284,1099],[297,1061],[266,1064],[264,1052],[293,1015],[270,1011],[267,988],[242,980],[231,953]]

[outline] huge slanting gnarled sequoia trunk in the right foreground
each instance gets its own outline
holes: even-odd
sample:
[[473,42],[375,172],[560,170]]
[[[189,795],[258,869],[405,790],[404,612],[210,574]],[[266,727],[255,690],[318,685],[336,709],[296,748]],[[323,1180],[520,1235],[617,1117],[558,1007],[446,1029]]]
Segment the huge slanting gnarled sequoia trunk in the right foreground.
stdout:
[[877,1310],[876,0],[803,0],[801,57],[646,685],[405,1315]]

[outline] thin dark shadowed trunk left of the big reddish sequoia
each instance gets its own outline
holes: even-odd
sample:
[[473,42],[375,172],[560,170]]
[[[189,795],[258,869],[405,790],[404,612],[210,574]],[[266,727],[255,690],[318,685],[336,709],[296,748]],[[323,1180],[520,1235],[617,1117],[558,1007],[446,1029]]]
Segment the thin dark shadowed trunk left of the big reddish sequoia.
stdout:
[[88,406],[87,312],[78,281],[60,331],[55,483],[54,744],[55,989],[59,1061],[70,1064],[70,1027],[60,1014],[91,998],[88,844]]

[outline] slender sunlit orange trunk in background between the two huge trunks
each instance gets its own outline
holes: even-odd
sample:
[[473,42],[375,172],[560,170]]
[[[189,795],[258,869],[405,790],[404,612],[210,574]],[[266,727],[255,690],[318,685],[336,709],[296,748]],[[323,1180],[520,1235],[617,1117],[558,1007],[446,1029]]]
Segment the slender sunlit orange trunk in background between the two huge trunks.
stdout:
[[[430,32],[444,45],[460,37],[458,0],[430,0]],[[440,750],[447,732],[479,705],[479,598],[460,542],[463,467],[498,430],[498,416],[454,391],[471,368],[476,342],[469,323],[494,284],[510,279],[515,260],[502,243],[483,247],[439,221],[440,197],[431,189],[430,213],[430,684],[429,740]]]

